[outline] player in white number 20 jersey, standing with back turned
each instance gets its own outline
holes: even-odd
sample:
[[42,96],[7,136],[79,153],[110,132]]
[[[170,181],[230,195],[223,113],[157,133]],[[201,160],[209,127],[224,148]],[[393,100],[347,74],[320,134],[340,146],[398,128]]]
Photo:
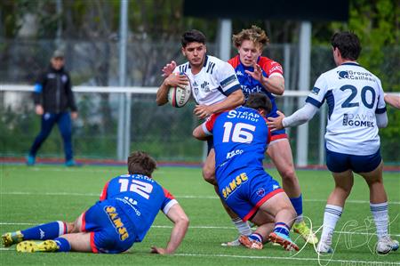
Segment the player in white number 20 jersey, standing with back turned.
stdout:
[[326,126],[326,165],[335,188],[328,197],[324,226],[318,243],[319,253],[332,253],[332,234],[342,214],[354,182],[354,173],[364,177],[370,189],[370,207],[377,228],[376,250],[387,254],[398,249],[388,235],[388,197],[383,186],[380,157],[380,127],[388,125],[380,79],[361,67],[358,37],[349,32],[332,36],[336,69],[322,74],[309,93],[306,104],[290,117],[268,118],[270,127],[280,129],[308,122],[326,100],[329,108]]

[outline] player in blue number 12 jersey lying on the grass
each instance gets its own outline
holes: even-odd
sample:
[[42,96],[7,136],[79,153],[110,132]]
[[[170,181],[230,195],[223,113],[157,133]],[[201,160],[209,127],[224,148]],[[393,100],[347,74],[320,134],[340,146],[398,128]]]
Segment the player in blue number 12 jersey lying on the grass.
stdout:
[[[141,242],[158,211],[174,223],[165,248],[152,246],[156,254],[172,254],[188,230],[188,216],[172,195],[151,174],[156,161],[136,151],[128,157],[128,173],[108,181],[100,201],[76,222],[49,222],[27,230],[5,233],[4,246],[17,245],[19,252],[92,252],[119,254]],[[36,243],[31,240],[45,240]]]

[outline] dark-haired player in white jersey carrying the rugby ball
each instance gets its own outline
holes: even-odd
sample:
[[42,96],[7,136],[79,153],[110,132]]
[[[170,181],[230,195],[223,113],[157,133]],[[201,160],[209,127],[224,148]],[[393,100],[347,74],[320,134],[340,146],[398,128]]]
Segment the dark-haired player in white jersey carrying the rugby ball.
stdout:
[[[200,119],[223,110],[235,109],[244,103],[244,94],[235,70],[228,62],[206,54],[205,36],[202,32],[196,29],[185,32],[181,37],[181,44],[181,51],[188,62],[175,67],[173,73],[168,71],[171,74],[164,79],[156,94],[158,105],[164,105],[168,101],[167,95],[171,86],[188,85],[188,82],[190,82],[196,100],[194,113]],[[173,64],[175,65],[175,62]],[[167,65],[166,68],[170,68],[171,65]],[[213,175],[215,153],[212,149],[212,139],[207,142],[209,154],[204,162],[203,177],[205,181],[214,185],[218,194],[217,182]],[[209,178],[210,176],[212,179]],[[237,217],[223,201],[221,202],[231,218]],[[243,222],[240,218],[232,218],[232,222],[241,235],[248,236],[252,233],[248,223]]]

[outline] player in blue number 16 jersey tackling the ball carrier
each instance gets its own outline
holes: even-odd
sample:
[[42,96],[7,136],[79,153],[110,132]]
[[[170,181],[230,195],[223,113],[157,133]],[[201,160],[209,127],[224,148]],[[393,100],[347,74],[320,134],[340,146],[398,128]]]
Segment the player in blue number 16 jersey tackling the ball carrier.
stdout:
[[199,140],[213,135],[220,197],[244,222],[259,226],[250,236],[241,236],[240,243],[261,249],[269,240],[286,250],[299,250],[289,237],[296,212],[262,165],[270,138],[265,116],[270,110],[265,94],[252,93],[245,107],[212,115],[193,135]]

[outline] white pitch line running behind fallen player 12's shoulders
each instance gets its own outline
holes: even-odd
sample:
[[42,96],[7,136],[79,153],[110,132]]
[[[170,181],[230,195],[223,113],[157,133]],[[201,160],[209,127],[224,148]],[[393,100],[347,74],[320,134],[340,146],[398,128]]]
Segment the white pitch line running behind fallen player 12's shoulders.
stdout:
[[[11,192],[0,192],[0,195],[33,195],[33,196],[82,196],[82,197],[100,197],[100,193],[75,193],[75,192],[44,192],[44,193],[32,193],[24,191],[11,191]],[[177,198],[188,198],[188,199],[219,199],[217,196],[192,196],[192,195],[180,195]],[[326,202],[326,199],[303,199],[305,202]],[[354,204],[366,204],[370,203],[369,200],[357,200],[348,199],[346,203]],[[391,205],[400,205],[400,201],[389,201]]]

